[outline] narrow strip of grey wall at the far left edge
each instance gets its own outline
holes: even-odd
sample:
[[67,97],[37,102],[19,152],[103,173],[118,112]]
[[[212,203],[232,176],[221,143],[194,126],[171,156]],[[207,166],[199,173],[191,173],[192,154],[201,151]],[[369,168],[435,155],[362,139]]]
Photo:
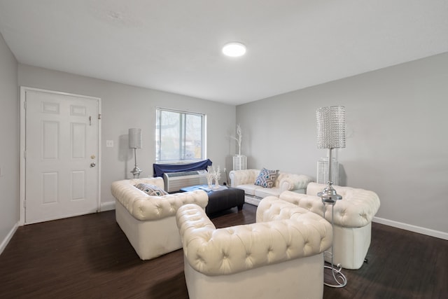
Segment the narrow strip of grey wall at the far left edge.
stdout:
[[18,223],[18,62],[0,34],[0,253]]

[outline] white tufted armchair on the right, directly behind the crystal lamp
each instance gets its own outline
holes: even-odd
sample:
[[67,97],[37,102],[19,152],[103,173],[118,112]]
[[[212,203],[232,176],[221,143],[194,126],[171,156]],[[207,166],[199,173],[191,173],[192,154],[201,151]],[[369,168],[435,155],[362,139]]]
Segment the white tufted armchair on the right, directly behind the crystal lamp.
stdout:
[[[323,216],[323,203],[317,193],[326,185],[309,183],[307,194],[283,192],[281,200],[291,202]],[[359,269],[364,262],[370,246],[372,218],[379,209],[379,197],[376,193],[360,188],[333,186],[337,194],[342,195],[334,207],[334,244],[333,263],[346,269]],[[325,205],[325,218],[331,221],[331,205]],[[330,262],[330,256],[325,256]]]

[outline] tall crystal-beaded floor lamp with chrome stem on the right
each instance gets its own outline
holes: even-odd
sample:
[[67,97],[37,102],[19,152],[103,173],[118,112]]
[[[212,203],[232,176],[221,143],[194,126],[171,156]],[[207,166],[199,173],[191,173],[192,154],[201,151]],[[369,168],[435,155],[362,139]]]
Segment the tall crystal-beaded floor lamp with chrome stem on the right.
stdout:
[[[344,106],[330,106],[322,107],[316,110],[317,119],[317,147],[328,148],[329,156],[328,161],[332,161],[332,151],[334,148],[345,147],[345,107]],[[318,197],[321,197],[323,203],[323,218],[325,218],[326,204],[331,204],[331,225],[333,228],[334,236],[334,208],[337,200],[342,200],[342,196],[338,195],[335,188],[332,187],[332,163],[328,163],[328,185],[317,193]],[[334,242],[334,241],[333,241]],[[327,252],[325,252],[327,253]],[[324,254],[325,254],[324,253]],[[333,283],[323,281],[325,286],[331,286],[333,288],[342,288],[346,286],[347,279],[342,274],[341,265],[333,264],[334,246],[331,246],[331,266],[325,265],[324,269],[330,269],[332,272]]]

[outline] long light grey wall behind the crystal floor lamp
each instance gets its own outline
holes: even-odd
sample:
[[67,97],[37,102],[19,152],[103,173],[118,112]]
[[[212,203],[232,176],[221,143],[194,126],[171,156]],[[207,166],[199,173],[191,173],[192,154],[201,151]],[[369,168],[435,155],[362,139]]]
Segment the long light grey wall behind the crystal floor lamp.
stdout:
[[377,192],[388,224],[447,237],[448,53],[237,106],[248,167],[316,177],[315,111],[331,105],[346,107],[340,184]]

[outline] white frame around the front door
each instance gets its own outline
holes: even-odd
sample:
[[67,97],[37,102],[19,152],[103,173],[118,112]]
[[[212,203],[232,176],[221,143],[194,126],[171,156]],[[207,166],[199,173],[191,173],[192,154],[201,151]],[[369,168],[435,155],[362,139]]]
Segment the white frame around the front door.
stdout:
[[[92,99],[98,102],[98,113],[101,116],[101,98],[90,97],[87,95],[77,95],[69,92],[59,92],[55,90],[45,90],[41,88],[29,88],[27,86],[20,86],[20,192],[19,192],[19,225],[25,225],[25,171],[26,163],[25,159],[25,140],[26,140],[26,111],[25,111],[25,99],[27,91],[46,92],[55,95],[68,95],[73,97],[82,97],[84,99]],[[101,210],[101,117],[98,118],[98,177],[97,177],[97,211]]]

